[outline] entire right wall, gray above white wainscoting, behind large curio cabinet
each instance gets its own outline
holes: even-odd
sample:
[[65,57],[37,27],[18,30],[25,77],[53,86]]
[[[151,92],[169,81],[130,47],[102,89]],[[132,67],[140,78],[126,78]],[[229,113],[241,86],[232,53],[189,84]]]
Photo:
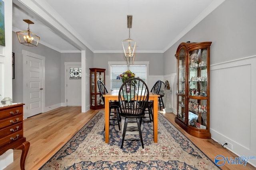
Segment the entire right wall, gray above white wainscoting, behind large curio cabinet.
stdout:
[[[210,132],[212,139],[231,143],[228,149],[238,156],[256,155],[255,7],[255,0],[224,1],[164,53],[164,74],[172,74],[181,42],[212,41]],[[256,166],[256,160],[249,162]]]

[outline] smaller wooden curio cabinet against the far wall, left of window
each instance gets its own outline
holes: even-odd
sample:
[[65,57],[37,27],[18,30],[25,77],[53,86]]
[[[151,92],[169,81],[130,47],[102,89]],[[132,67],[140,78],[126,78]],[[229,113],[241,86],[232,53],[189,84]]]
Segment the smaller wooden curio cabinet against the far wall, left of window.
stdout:
[[90,68],[90,109],[103,109],[104,102],[100,95],[100,90],[97,81],[101,80],[105,84],[105,70],[104,68]]

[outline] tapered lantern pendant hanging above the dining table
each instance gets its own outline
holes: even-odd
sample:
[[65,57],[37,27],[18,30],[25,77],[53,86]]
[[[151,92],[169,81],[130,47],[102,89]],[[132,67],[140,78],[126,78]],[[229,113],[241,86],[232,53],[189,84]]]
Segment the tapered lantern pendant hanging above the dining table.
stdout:
[[127,15],[127,28],[129,28],[129,38],[122,41],[124,55],[127,64],[133,64],[135,58],[136,41],[130,39],[130,28],[132,28],[132,15]]

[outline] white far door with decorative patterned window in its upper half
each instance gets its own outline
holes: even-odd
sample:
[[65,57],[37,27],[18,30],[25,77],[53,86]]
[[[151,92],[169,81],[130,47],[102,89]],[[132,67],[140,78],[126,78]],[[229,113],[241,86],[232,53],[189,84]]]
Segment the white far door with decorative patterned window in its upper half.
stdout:
[[67,106],[81,106],[81,65],[67,65]]

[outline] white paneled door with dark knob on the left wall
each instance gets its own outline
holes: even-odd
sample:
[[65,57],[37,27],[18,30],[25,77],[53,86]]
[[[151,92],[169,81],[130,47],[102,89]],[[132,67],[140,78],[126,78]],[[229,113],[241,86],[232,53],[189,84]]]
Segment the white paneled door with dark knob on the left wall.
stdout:
[[43,62],[45,58],[33,53],[24,53],[24,117],[43,112]]

